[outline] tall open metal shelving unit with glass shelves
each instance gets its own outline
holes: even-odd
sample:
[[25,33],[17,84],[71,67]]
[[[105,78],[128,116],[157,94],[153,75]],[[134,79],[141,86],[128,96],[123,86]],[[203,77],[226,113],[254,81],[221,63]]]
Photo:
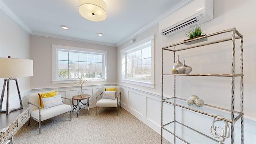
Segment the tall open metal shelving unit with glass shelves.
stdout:
[[[202,39],[207,40],[202,42]],[[209,40],[210,39],[210,40]],[[212,40],[211,40],[212,39]],[[163,73],[163,53],[164,51],[172,51],[174,52],[174,62],[175,62],[175,53],[182,50],[188,50],[191,48],[202,47],[210,44],[216,44],[225,41],[232,41],[232,60],[231,60],[231,73],[230,74],[169,74]],[[235,42],[236,40],[240,40],[240,72],[235,74]],[[199,43],[196,43],[196,42]],[[191,45],[190,45],[191,44]],[[164,96],[163,92],[163,77],[164,76],[174,76],[174,97],[168,98],[168,96]],[[212,106],[208,104],[204,104],[202,108],[198,108],[196,106],[188,106],[186,104],[186,100],[183,98],[176,97],[176,76],[217,76],[217,77],[230,77],[231,78],[231,108],[220,108],[217,106]],[[170,134],[174,136],[174,144],[176,143],[176,138],[179,138],[183,142],[190,144],[191,143],[222,143],[219,142],[216,138],[207,136],[202,132],[190,128],[181,122],[176,120],[176,108],[184,108],[190,111],[197,112],[198,114],[204,114],[206,116],[210,116],[212,118],[220,119],[225,122],[229,122],[231,125],[230,135],[231,135],[231,144],[234,144],[234,125],[240,119],[241,120],[241,144],[244,144],[244,113],[243,113],[243,91],[244,91],[244,82],[243,82],[243,36],[236,30],[236,28],[230,28],[228,30],[223,30],[220,32],[216,32],[213,34],[208,34],[206,36],[202,36],[199,38],[194,38],[192,40],[186,40],[184,42],[180,42],[177,44],[172,44],[170,46],[165,46],[162,48],[162,112],[161,112],[161,138],[163,139],[163,130],[166,130]],[[240,111],[235,111],[234,108],[234,98],[235,98],[235,77],[240,77]],[[163,124],[163,104],[171,104],[174,106],[174,120]],[[223,115],[223,117],[219,115]],[[210,126],[209,126],[210,127]],[[176,132],[178,128],[182,129],[182,132],[188,134],[180,134]],[[193,134],[192,134],[193,133]],[[193,139],[189,137],[189,135],[194,135],[196,137],[202,137],[200,140],[201,142],[192,142]],[[161,140],[162,143],[162,140]]]

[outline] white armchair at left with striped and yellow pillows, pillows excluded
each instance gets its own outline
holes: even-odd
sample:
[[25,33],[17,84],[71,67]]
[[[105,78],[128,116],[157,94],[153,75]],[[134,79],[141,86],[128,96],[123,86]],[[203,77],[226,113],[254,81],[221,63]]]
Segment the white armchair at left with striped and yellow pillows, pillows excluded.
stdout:
[[[47,93],[47,92],[39,92],[39,93]],[[56,92],[56,96],[58,96],[58,91]],[[60,104],[57,106],[52,106],[50,108],[41,108],[39,102],[38,92],[31,93],[28,96],[28,106],[30,107],[30,118],[28,125],[30,125],[30,119],[33,118],[39,123],[39,134],[41,134],[41,122],[52,118],[54,116],[58,116],[60,114],[64,114],[66,112],[70,112],[70,120],[72,114],[71,108],[71,99],[61,97],[70,101],[70,104]],[[61,101],[61,100],[60,100]]]

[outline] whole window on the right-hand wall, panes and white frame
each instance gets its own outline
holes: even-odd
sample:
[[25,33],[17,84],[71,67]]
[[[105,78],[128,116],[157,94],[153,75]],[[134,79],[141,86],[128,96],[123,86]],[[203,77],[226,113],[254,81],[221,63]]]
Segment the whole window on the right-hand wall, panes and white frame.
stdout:
[[154,35],[121,50],[122,82],[154,88]]

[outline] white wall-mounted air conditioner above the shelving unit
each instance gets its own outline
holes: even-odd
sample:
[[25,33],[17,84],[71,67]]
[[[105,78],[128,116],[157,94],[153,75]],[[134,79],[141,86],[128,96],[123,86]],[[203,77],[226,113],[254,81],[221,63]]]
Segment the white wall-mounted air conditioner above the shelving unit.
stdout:
[[160,34],[171,36],[213,19],[212,0],[194,0],[159,22]]

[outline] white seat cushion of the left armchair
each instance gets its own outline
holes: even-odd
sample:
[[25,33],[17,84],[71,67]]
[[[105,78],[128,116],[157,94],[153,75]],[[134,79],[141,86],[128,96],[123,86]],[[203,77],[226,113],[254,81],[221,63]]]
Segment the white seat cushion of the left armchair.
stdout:
[[[71,111],[71,106],[68,104],[62,104],[62,105],[54,106],[54,107],[47,108],[47,109],[42,108],[41,109],[41,121],[47,120],[54,116],[58,116],[60,114],[64,114],[69,111]],[[30,116],[39,120],[39,109],[31,111]]]

